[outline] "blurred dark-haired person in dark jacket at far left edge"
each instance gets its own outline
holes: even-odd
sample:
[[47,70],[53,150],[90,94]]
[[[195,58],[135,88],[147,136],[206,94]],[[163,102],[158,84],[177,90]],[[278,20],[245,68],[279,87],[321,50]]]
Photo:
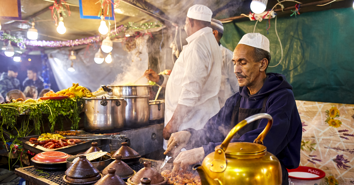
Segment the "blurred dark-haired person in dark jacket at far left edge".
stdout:
[[6,93],[20,89],[20,81],[16,78],[18,75],[18,68],[15,65],[11,65],[7,68],[7,73],[4,72],[0,76],[0,94],[2,97],[6,97]]

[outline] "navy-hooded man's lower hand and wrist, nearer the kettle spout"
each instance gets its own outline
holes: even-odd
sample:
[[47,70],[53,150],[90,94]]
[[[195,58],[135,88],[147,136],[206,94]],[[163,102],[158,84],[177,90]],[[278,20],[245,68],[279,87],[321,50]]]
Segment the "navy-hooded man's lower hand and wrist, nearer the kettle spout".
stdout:
[[204,149],[203,147],[194,148],[192,150],[187,150],[179,153],[175,161],[173,161],[173,169],[171,176],[175,177],[176,173],[179,172],[179,167],[182,167],[182,173],[184,173],[189,165],[197,164],[204,159]]

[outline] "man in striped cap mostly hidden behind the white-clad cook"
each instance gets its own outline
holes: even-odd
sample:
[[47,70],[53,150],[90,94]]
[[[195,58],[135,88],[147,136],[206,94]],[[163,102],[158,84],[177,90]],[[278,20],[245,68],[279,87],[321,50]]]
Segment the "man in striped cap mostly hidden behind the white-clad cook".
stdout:
[[229,97],[240,91],[240,86],[234,73],[234,62],[232,61],[233,52],[223,47],[220,43],[220,39],[224,33],[224,26],[221,21],[211,19],[211,28],[213,29],[213,34],[216,38],[216,42],[219,44],[222,54],[221,86],[218,93],[221,108]]

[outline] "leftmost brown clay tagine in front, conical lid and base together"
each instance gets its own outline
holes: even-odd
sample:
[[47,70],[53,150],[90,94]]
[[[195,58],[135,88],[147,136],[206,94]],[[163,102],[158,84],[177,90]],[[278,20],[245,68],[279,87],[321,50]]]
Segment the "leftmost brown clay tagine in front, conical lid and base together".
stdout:
[[102,176],[85,155],[80,155],[79,160],[65,171],[63,180],[69,185],[93,184]]

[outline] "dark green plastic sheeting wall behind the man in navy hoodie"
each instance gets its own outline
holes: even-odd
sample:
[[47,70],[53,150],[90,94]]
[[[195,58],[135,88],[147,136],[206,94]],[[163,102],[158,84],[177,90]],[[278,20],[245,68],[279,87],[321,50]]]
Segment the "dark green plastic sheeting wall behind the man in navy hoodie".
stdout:
[[[353,8],[341,8],[279,18],[277,30],[284,58],[267,72],[284,74],[297,100],[354,104],[353,17]],[[241,37],[253,31],[255,23],[224,23],[221,43],[233,51]],[[255,31],[270,41],[270,66],[281,58],[274,23],[271,19],[269,34],[267,19],[258,22]]]

